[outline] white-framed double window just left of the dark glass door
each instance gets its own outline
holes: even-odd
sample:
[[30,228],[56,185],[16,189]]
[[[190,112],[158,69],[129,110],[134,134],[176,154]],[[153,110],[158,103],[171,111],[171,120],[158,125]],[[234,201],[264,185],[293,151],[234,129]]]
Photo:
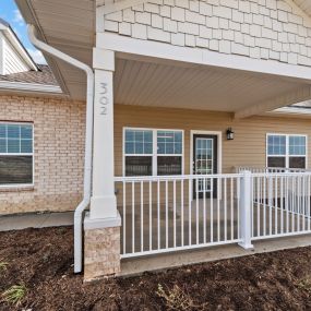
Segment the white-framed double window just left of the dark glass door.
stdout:
[[182,131],[124,129],[124,175],[181,175],[182,141]]

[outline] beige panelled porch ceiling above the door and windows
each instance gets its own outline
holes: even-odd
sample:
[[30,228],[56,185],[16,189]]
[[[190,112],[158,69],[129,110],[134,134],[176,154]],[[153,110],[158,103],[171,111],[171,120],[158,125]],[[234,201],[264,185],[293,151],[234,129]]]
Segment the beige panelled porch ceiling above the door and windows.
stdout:
[[306,85],[238,70],[118,59],[115,100],[125,105],[234,112]]

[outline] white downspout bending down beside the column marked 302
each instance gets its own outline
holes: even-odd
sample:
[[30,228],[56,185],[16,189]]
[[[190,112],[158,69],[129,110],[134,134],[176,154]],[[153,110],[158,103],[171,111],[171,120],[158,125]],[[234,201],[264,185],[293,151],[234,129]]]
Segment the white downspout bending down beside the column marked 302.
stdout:
[[89,65],[57,50],[56,48],[40,41],[35,36],[34,25],[28,25],[28,36],[32,44],[56,58],[59,58],[86,73],[86,130],[85,130],[85,159],[84,159],[84,187],[83,200],[74,212],[74,272],[82,272],[82,216],[91,200],[91,179],[92,179],[92,147],[93,147],[93,104],[94,104],[94,73]]

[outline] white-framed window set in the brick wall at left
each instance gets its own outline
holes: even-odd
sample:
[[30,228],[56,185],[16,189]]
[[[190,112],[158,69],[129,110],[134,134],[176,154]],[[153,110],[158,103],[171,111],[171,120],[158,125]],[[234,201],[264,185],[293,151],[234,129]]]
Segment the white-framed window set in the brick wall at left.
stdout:
[[0,186],[33,183],[33,124],[0,122]]

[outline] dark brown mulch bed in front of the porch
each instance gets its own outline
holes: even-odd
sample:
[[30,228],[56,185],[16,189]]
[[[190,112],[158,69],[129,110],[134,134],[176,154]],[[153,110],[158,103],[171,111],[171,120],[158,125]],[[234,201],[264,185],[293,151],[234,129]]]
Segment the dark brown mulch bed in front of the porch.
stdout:
[[83,284],[72,229],[45,228],[0,232],[1,262],[0,310],[311,310],[311,247]]

